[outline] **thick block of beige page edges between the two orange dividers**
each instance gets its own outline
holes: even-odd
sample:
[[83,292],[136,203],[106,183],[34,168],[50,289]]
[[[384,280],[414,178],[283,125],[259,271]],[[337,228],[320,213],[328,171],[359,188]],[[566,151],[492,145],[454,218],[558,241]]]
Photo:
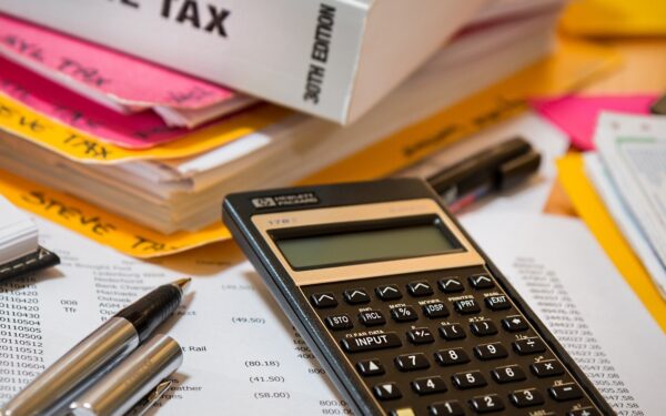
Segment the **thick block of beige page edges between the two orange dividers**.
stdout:
[[[542,13],[457,38],[349,126],[294,114],[195,156],[113,165],[78,163],[7,134],[0,163],[161,233],[200,230],[219,221],[226,193],[297,182],[535,62],[552,50],[555,18]],[[422,145],[411,153],[403,165],[426,154]]]

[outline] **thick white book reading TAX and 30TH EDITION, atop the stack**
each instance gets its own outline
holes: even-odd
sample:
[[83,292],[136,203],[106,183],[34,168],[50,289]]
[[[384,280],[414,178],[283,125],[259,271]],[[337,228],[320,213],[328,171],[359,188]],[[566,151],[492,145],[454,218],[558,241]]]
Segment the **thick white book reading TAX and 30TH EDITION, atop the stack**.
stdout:
[[2,0],[0,11],[340,123],[491,0]]

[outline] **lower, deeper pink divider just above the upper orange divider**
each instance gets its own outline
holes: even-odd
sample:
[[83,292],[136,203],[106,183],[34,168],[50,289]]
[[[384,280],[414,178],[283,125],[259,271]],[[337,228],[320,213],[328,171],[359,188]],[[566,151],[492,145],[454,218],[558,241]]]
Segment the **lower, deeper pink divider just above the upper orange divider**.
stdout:
[[167,126],[152,111],[110,110],[1,57],[0,92],[49,119],[128,149],[145,149],[190,133]]

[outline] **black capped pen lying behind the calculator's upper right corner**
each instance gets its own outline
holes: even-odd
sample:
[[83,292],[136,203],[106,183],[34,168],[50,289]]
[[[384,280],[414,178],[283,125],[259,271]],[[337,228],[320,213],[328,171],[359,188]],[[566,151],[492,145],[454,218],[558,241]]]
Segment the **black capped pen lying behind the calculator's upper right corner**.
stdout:
[[452,212],[491,192],[516,185],[538,170],[541,154],[522,138],[485,149],[427,179]]

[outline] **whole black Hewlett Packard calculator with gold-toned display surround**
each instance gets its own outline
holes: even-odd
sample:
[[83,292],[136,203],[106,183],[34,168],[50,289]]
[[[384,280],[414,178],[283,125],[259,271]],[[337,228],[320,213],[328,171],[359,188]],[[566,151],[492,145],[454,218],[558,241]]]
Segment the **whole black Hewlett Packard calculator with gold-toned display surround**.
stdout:
[[614,414],[425,182],[238,193],[223,217],[357,415]]

